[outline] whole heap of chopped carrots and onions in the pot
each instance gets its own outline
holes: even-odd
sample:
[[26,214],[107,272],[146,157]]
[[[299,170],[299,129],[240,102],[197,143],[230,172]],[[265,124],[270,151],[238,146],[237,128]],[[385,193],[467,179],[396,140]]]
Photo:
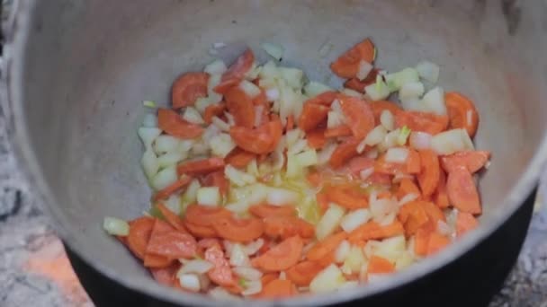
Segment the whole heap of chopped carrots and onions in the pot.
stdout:
[[151,210],[104,229],[158,283],[216,298],[336,291],[443,250],[481,213],[477,109],[432,85],[435,64],[387,73],[376,53],[364,39],[331,63],[341,90],[250,48],[180,75],[171,108],[144,101]]

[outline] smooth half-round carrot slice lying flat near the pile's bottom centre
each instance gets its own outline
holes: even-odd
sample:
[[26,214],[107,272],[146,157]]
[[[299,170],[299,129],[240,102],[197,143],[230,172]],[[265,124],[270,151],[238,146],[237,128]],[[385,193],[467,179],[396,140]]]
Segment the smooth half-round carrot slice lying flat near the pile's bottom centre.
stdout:
[[256,268],[282,271],[294,266],[302,254],[303,242],[298,235],[281,241],[259,257],[251,260]]

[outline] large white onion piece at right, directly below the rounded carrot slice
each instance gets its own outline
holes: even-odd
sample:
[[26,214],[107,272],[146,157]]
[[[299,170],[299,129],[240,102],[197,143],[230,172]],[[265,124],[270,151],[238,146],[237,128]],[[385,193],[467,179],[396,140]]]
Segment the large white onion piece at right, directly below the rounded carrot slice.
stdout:
[[474,150],[471,137],[466,129],[452,129],[431,138],[431,148],[437,154],[452,154],[464,150]]

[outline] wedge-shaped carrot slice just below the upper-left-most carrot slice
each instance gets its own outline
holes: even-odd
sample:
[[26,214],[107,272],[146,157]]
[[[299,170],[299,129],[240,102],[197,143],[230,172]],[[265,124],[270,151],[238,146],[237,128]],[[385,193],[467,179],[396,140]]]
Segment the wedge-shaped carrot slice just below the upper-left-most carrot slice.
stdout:
[[181,118],[174,110],[157,110],[157,127],[166,134],[179,138],[195,138],[201,136],[204,129]]

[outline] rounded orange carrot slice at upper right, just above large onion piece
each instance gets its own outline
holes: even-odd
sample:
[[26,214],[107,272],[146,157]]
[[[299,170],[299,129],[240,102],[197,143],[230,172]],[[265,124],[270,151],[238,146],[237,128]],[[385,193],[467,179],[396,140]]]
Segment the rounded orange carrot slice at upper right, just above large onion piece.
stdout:
[[473,101],[459,92],[446,92],[444,103],[450,117],[450,127],[464,128],[469,136],[475,136],[479,127],[479,112]]

